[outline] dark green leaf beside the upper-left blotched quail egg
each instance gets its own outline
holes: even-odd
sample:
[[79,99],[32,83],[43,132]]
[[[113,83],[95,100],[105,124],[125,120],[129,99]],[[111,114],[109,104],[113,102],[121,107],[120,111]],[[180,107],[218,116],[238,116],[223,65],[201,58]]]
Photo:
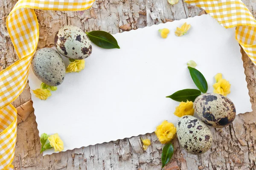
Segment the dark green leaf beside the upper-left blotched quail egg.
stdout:
[[120,48],[116,39],[105,31],[91,31],[86,32],[87,36],[94,44],[98,45],[101,48]]

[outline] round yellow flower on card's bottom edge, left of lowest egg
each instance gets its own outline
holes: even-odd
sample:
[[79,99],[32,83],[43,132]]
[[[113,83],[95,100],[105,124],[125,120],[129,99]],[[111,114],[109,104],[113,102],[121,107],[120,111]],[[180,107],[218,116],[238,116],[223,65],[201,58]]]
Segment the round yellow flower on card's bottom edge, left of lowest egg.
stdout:
[[175,137],[176,127],[165,120],[161,125],[157,126],[155,133],[159,141],[165,144]]

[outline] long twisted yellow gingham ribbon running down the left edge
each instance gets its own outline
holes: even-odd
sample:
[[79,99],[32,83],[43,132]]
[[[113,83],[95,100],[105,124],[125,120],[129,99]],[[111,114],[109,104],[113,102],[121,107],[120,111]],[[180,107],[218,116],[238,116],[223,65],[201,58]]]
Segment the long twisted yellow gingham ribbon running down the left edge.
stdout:
[[95,0],[19,0],[6,19],[6,26],[19,60],[0,72],[0,170],[13,168],[17,111],[11,105],[26,86],[29,67],[39,38],[34,9],[81,11]]

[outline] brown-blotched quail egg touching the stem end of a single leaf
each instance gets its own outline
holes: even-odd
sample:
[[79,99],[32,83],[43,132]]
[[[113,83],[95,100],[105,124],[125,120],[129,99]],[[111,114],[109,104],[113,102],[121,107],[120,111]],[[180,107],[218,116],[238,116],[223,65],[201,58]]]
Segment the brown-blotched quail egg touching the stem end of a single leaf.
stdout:
[[71,59],[85,59],[92,53],[90,39],[76,26],[64,26],[54,39],[58,52]]

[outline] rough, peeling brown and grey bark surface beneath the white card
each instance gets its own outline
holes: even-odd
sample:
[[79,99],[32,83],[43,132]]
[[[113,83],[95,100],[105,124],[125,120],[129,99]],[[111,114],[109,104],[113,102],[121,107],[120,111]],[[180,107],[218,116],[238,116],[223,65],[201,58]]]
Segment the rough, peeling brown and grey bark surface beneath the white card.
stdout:
[[[16,2],[17,0],[0,1],[0,70],[18,59],[5,24],[6,17]],[[243,2],[256,17],[256,1],[243,0]],[[53,46],[55,33],[65,25],[78,26],[84,31],[104,30],[115,34],[204,13],[201,9],[184,3],[183,0],[174,6],[169,5],[167,0],[97,0],[92,8],[85,11],[35,10],[35,12],[40,28],[38,48]],[[226,128],[211,128],[212,147],[200,156],[187,153],[179,146],[177,139],[174,139],[175,153],[166,170],[256,169],[256,67],[243,50],[241,54],[253,112],[237,115],[232,125]],[[18,107],[29,101],[30,95],[27,85],[20,97],[13,103],[14,106]],[[163,145],[158,142],[154,133],[43,157],[39,153],[41,144],[34,113],[31,113],[26,120],[20,116],[18,119],[21,123],[17,126],[16,151],[13,161],[15,170],[20,170],[20,168],[22,170],[161,169]],[[75,125],[70,122],[70,126]],[[132,126],[132,124],[127,126]],[[86,131],[87,129],[81,129],[81,135],[86,135]],[[152,145],[148,150],[143,151],[140,137],[151,140]],[[22,167],[20,167],[19,155]]]

